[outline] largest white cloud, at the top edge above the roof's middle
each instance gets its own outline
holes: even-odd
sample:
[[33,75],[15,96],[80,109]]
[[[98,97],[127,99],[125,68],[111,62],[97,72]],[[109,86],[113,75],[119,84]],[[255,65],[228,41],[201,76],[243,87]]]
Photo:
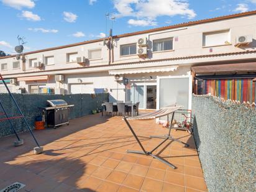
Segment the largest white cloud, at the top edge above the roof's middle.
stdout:
[[149,25],[155,25],[160,16],[181,15],[193,19],[196,13],[189,6],[185,0],[114,0],[116,17],[136,17],[132,22],[143,20],[144,24],[147,21]]

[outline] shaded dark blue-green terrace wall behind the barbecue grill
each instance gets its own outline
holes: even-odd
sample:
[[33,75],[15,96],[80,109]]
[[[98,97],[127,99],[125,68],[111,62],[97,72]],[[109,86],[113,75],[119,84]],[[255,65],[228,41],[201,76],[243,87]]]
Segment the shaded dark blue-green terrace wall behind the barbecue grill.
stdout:
[[[64,99],[68,104],[75,104],[71,107],[70,119],[75,119],[77,117],[86,116],[91,114],[92,109],[101,109],[101,104],[103,101],[108,101],[108,94],[14,94],[21,111],[24,113],[25,118],[30,124],[30,127],[34,129],[35,116],[42,114],[42,109],[39,107],[47,106],[47,100],[51,99]],[[16,106],[9,94],[0,94],[0,99],[4,108],[9,116],[19,116]],[[0,107],[0,112],[2,109]],[[1,118],[4,116],[1,116]],[[11,120],[17,132],[27,131],[24,121],[22,119]],[[0,137],[6,135],[14,134],[9,125],[8,121],[0,121]]]

